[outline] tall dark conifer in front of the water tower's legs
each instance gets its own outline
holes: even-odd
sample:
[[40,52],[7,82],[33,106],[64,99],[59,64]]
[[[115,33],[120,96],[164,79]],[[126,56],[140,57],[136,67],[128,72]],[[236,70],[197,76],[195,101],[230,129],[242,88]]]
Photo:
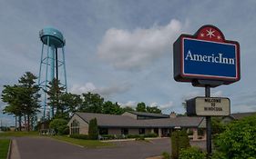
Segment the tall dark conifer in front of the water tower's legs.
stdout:
[[[46,94],[48,95],[48,105],[52,107],[52,114],[55,118],[62,116],[64,113],[63,104],[60,103],[60,96],[64,94],[65,87],[60,85],[59,80],[54,78],[49,84],[47,85],[48,90]],[[54,114],[54,110],[56,109],[56,114]]]

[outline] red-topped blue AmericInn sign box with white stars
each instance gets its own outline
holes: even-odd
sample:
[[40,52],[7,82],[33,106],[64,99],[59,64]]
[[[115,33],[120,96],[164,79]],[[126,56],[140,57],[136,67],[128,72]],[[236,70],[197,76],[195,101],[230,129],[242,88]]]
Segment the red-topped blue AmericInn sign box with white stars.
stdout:
[[240,80],[240,45],[225,40],[220,29],[204,25],[195,35],[180,35],[173,45],[174,79],[179,82]]

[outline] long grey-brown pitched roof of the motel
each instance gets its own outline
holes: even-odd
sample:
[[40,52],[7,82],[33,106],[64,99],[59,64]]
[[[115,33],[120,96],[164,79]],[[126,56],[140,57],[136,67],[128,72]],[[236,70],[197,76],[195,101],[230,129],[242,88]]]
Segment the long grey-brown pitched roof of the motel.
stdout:
[[161,118],[137,120],[130,116],[115,114],[92,114],[92,113],[76,113],[87,123],[97,118],[97,125],[101,127],[198,127],[203,117],[180,116],[176,118]]

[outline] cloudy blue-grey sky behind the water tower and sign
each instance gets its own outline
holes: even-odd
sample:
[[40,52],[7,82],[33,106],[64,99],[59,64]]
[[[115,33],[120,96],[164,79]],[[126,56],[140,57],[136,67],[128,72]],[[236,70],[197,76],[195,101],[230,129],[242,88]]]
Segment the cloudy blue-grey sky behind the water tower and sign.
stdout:
[[[211,95],[229,97],[231,113],[256,111],[255,8],[253,0],[2,0],[0,91],[27,71],[39,75],[39,31],[51,26],[66,38],[68,92],[183,114],[182,103],[204,88],[173,79],[172,45],[180,34],[215,25],[241,45],[241,80]],[[0,102],[0,119],[14,124],[4,107]]]

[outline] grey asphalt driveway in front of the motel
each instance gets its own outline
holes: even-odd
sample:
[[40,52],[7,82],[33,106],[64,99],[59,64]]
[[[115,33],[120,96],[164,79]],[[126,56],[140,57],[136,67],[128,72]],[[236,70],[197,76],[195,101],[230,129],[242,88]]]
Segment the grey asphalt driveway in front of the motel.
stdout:
[[[170,149],[170,141],[117,142],[117,147],[88,149],[49,138],[15,138],[21,159],[145,159]],[[11,159],[18,159],[11,157]]]

